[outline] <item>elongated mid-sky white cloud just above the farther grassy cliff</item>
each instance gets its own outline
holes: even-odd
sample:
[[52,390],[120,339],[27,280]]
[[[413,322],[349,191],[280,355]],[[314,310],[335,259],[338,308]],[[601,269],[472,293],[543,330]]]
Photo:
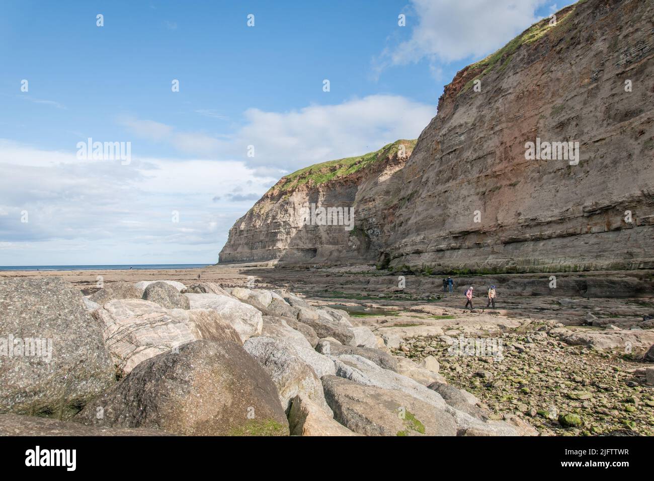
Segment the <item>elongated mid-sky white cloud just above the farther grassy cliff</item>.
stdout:
[[[245,125],[228,139],[177,132],[152,120],[122,123],[135,135],[169,143],[182,154],[236,158],[256,169],[256,175],[279,177],[317,162],[375,151],[398,139],[415,139],[434,115],[434,105],[373,95],[284,113],[248,109]],[[250,145],[254,156],[248,156]]]

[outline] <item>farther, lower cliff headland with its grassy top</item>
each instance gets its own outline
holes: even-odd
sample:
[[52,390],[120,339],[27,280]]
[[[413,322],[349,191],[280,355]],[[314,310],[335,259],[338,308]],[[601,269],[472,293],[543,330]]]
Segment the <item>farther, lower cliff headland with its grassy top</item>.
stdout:
[[[384,183],[404,166],[414,145],[415,140],[399,140],[377,152],[324,162],[282,177],[230,229],[220,262],[375,261],[381,246],[371,247],[368,233],[360,227],[360,219],[367,215],[360,207],[372,202],[370,194],[383,190]],[[360,204],[362,194],[365,199]],[[348,209],[344,213],[353,209],[354,228],[345,223],[348,218],[323,225],[319,215],[314,215],[312,221],[312,208],[320,207]]]

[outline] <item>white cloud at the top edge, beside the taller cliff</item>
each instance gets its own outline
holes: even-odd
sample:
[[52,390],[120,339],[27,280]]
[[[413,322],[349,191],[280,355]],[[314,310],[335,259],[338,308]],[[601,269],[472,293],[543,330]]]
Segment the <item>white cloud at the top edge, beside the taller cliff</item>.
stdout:
[[375,60],[377,70],[427,58],[455,62],[483,58],[539,20],[547,0],[411,0],[407,15],[411,38],[387,48]]

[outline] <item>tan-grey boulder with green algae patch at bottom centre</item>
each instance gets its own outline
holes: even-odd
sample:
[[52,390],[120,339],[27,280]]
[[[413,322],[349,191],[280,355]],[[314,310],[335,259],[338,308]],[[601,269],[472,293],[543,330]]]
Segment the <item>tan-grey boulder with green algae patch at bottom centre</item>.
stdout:
[[455,436],[453,417],[402,391],[360,385],[337,376],[322,378],[334,419],[366,436]]

